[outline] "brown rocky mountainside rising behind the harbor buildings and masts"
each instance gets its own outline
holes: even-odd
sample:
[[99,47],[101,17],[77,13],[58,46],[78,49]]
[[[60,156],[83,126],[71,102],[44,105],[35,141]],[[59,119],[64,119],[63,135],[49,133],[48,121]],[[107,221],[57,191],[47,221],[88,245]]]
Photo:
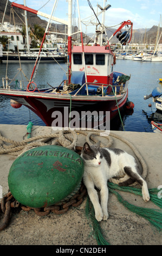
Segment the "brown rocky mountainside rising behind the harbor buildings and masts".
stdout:
[[[6,2],[7,2],[6,0],[1,0],[1,3],[0,3],[0,17],[3,17]],[[11,6],[11,2],[9,1],[8,6],[7,6],[7,11],[6,11],[5,17],[4,17],[4,22],[5,21],[7,21],[7,22],[10,21],[10,6]],[[16,7],[14,7],[13,9],[16,12],[16,14],[18,16],[20,16],[21,19],[24,21],[24,17],[22,15],[22,14],[24,14],[24,11],[21,10],[21,9],[18,9]],[[16,14],[14,15],[16,25],[22,25],[22,21],[20,20],[20,18]],[[14,24],[13,19],[11,19],[11,23]],[[40,19],[40,17],[38,17],[36,14],[28,12],[28,26],[34,27],[35,24],[40,25],[43,28],[46,28],[47,21],[43,20],[43,19]],[[50,31],[54,31],[55,28],[56,28],[55,23],[52,23]],[[76,29],[77,28],[75,27],[74,32],[76,31]],[[157,30],[158,30],[157,26],[153,26],[150,29],[145,29],[145,28],[133,29],[133,36],[132,36],[132,41],[131,42],[142,42],[142,43],[144,43],[144,40],[145,40],[145,43],[147,41],[147,44],[150,44],[150,43],[155,44],[155,40],[156,40],[156,37],[157,37]],[[57,32],[64,33],[64,25],[57,24]],[[111,29],[111,31],[109,31],[107,29],[108,38],[110,38],[110,36],[112,35],[112,32],[114,33],[115,30]],[[90,38],[90,35],[89,35],[89,37],[87,37],[86,41],[88,41],[89,38]],[[118,42],[118,39],[116,39],[114,37],[113,41]],[[162,36],[161,36],[160,44],[162,44]]]

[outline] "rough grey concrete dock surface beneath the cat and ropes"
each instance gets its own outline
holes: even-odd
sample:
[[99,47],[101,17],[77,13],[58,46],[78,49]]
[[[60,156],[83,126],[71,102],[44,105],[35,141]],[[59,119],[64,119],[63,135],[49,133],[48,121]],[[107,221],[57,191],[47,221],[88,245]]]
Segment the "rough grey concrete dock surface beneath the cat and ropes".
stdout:
[[[25,125],[0,125],[0,132],[1,136],[5,138],[21,142],[27,133],[27,127]],[[31,137],[53,132],[51,127],[33,126]],[[113,131],[113,133],[131,142],[145,160],[148,167],[146,177],[148,188],[158,188],[162,185],[162,135],[124,131]],[[126,143],[114,137],[112,140],[113,148],[120,148],[134,155],[134,152]],[[101,138],[101,141],[106,145],[106,138]],[[78,135],[77,145],[83,145],[84,142],[86,142],[86,136]],[[50,144],[51,142],[47,143]],[[0,154],[0,186],[2,187],[3,196],[8,193],[8,173],[16,157],[16,155],[11,154]],[[119,193],[131,204],[143,208],[159,209],[152,202],[145,203],[140,196],[126,192]],[[97,247],[98,242],[92,235],[92,228],[85,214],[86,201],[87,197],[80,206],[71,207],[62,215],[50,212],[49,215],[42,217],[36,215],[33,210],[29,212],[15,211],[14,214],[11,214],[8,227],[0,231],[0,245],[80,245]],[[110,245],[161,245],[161,234],[155,230],[150,222],[126,209],[112,193],[109,193],[108,213],[108,220],[101,221],[100,227],[103,236]],[[0,224],[3,217],[4,214],[0,211]]]

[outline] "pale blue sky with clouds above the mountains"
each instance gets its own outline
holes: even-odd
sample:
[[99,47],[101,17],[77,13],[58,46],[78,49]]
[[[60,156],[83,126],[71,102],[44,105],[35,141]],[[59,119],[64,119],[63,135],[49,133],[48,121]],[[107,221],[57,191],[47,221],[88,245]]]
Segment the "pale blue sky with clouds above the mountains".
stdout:
[[[24,3],[24,0],[10,1],[18,4]],[[103,7],[103,0],[89,1],[95,12],[97,12],[97,4]],[[25,2],[27,7],[50,14],[55,0],[25,0]],[[43,7],[44,4],[46,5]],[[111,8],[105,12],[105,25],[108,27],[118,25],[122,21],[127,20],[133,22],[133,29],[151,28],[152,26],[159,25],[160,15],[162,13],[162,0],[107,0],[105,5],[107,4],[111,5]],[[54,16],[67,20],[68,9],[66,5],[66,0],[59,0]],[[87,0],[79,0],[79,5],[81,20],[93,14]],[[75,4],[73,4],[74,6]],[[73,17],[77,18],[77,8]],[[41,17],[41,19],[44,18]],[[99,20],[100,22],[102,21],[102,15],[99,16]],[[86,31],[85,26],[83,26],[82,31]],[[89,32],[92,32],[92,26],[87,27],[87,33]]]

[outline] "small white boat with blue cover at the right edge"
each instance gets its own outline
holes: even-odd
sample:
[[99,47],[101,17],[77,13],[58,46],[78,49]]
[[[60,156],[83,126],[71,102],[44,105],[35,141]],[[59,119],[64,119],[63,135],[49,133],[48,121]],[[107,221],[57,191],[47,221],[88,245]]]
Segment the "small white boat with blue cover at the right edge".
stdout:
[[150,99],[152,97],[153,102],[155,102],[155,107],[157,110],[162,111],[162,88],[155,87],[151,94],[144,96],[144,100]]

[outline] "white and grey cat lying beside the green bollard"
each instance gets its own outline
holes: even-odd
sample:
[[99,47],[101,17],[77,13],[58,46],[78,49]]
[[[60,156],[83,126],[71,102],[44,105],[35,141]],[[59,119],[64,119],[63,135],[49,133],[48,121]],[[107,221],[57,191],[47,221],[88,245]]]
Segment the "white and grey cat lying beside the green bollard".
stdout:
[[[127,186],[134,181],[142,187],[142,197],[145,202],[150,200],[146,181],[141,177],[137,161],[133,156],[121,149],[100,148],[100,142],[90,146],[87,142],[83,145],[81,157],[85,163],[83,183],[87,187],[90,200],[95,210],[98,221],[107,220],[108,187],[107,180],[126,174],[120,179],[120,186]],[[95,187],[100,190],[101,205]]]

